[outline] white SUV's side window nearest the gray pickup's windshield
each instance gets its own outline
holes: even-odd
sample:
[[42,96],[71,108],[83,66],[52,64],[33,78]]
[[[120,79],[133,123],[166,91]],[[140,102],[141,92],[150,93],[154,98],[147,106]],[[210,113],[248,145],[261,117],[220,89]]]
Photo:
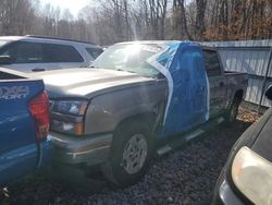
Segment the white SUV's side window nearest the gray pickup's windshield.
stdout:
[[44,44],[45,62],[83,62],[79,52],[69,45]]

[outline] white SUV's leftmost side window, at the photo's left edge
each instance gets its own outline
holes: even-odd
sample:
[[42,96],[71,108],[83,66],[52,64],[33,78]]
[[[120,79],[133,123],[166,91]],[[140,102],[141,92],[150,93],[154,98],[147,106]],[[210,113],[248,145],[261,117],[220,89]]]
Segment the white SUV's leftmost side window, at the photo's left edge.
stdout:
[[39,63],[44,60],[39,43],[16,41],[9,45],[1,56],[10,56],[12,63]]

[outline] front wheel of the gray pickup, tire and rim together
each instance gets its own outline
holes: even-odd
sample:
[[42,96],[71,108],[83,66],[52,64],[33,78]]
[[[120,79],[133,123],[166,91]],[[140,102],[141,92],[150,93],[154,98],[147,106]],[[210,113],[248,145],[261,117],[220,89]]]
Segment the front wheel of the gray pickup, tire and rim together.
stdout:
[[146,173],[152,144],[148,123],[133,121],[121,125],[113,134],[109,160],[101,165],[103,176],[122,188],[134,184]]

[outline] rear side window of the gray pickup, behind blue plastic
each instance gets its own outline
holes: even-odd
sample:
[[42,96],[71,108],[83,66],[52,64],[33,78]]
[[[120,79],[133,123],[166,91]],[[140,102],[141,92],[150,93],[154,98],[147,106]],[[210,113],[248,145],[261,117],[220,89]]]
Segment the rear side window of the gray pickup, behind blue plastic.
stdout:
[[221,74],[218,53],[214,50],[203,50],[205,69],[208,76],[217,76]]

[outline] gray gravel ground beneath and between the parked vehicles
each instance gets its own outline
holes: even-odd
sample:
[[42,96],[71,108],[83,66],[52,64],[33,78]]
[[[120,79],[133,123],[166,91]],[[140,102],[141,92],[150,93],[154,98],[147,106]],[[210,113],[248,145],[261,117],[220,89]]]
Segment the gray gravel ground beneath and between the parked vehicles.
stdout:
[[39,174],[2,191],[0,204],[209,204],[232,145],[257,119],[256,113],[240,109],[235,124],[222,124],[156,159],[143,180],[123,190],[97,172],[84,192]]

